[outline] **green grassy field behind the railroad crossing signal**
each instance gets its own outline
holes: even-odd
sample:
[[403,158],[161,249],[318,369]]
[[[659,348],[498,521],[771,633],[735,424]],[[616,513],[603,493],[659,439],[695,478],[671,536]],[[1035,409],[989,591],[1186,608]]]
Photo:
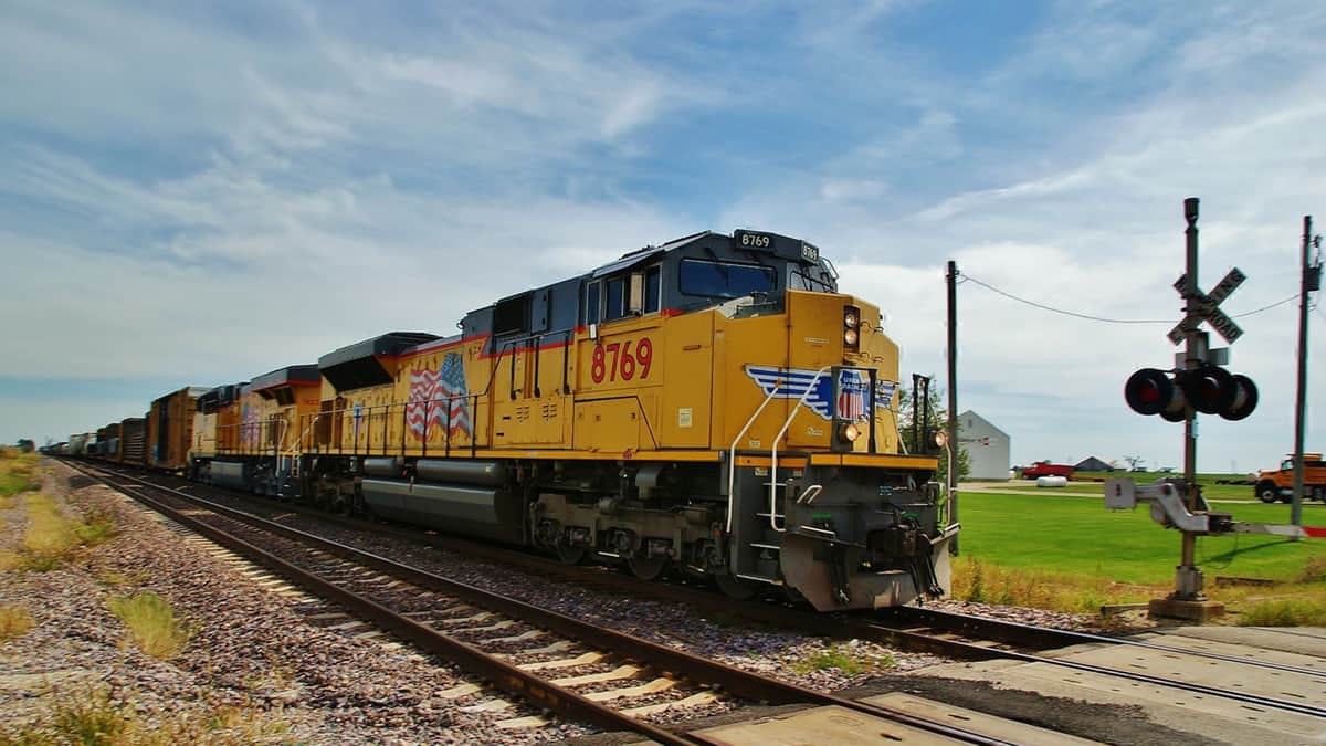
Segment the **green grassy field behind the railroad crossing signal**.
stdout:
[[[964,488],[961,558],[955,595],[1062,611],[1094,611],[1105,603],[1144,601],[1172,589],[1180,535],[1151,520],[1143,506],[1105,510],[1102,490],[1036,490],[1028,483]],[[1246,490],[1246,487],[1241,487]],[[1020,494],[1009,490],[1032,490]],[[1207,490],[1208,499],[1220,499]],[[1216,504],[1235,520],[1288,523],[1289,507],[1245,502]],[[1326,506],[1305,506],[1303,522],[1326,524]],[[1197,539],[1197,564],[1208,595],[1232,611],[1269,601],[1294,601],[1326,615],[1326,540],[1286,542],[1252,535]],[[1216,587],[1215,577],[1282,583],[1273,589]],[[1266,612],[1270,613],[1270,612]],[[1296,619],[1315,619],[1313,613]],[[1323,617],[1326,619],[1326,617]]]

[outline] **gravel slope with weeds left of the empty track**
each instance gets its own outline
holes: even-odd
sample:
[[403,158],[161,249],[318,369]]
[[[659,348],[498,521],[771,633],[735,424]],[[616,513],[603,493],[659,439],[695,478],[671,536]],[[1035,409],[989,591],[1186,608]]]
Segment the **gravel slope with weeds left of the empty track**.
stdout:
[[[11,735],[48,725],[61,704],[94,696],[145,733],[220,723],[190,730],[216,742],[529,743],[583,731],[496,731],[495,721],[537,713],[469,711],[473,697],[438,698],[469,681],[386,637],[357,638],[310,623],[289,593],[186,542],[119,492],[70,488],[70,478],[89,483],[52,465],[42,492],[73,518],[113,515],[118,531],[54,569],[0,576],[0,604],[27,608],[34,623],[0,645],[0,722]],[[15,498],[4,515],[3,548],[11,552],[20,550],[24,499]],[[159,661],[126,642],[106,599],[139,591],[167,599],[192,629],[178,657]]]

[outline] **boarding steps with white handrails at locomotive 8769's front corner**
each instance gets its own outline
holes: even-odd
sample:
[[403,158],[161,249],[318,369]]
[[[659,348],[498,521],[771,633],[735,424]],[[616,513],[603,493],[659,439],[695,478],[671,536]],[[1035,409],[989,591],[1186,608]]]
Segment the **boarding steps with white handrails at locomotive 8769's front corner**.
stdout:
[[[728,558],[728,561],[732,567],[733,575],[736,575],[743,580],[756,580],[760,583],[769,583],[772,585],[782,585],[782,581],[778,580],[776,575],[758,573],[756,572],[754,567],[758,564],[760,559],[765,558],[766,555],[773,555],[770,559],[777,559],[781,555],[782,547],[773,542],[777,540],[777,536],[780,534],[788,532],[786,527],[788,516],[782,512],[778,512],[778,494],[782,492],[784,498],[790,500],[794,483],[790,478],[782,482],[778,481],[778,442],[782,441],[784,435],[788,434],[788,429],[792,426],[792,421],[797,417],[797,413],[801,410],[801,406],[806,404],[806,398],[819,384],[819,380],[826,373],[833,370],[833,368],[834,368],[833,365],[825,365],[819,370],[815,370],[814,377],[810,380],[809,384],[806,384],[806,388],[805,390],[801,392],[801,396],[797,397],[797,404],[792,408],[792,411],[788,413],[786,419],[782,422],[782,427],[778,430],[778,434],[773,438],[773,443],[769,449],[769,481],[760,483],[761,492],[762,490],[768,490],[769,492],[768,508],[766,511],[756,510],[753,518],[757,520],[749,520],[751,516],[745,511],[743,511],[741,506],[739,504],[743,500],[739,500],[737,498],[737,490],[739,490],[737,466],[736,466],[737,445],[741,442],[741,438],[744,438],[745,434],[751,430],[751,426],[754,425],[754,421],[758,419],[760,414],[764,413],[765,408],[769,406],[769,402],[777,397],[780,388],[777,386],[773,388],[764,397],[764,401],[747,421],[745,426],[741,427],[741,431],[737,433],[737,437],[732,441],[732,446],[728,449],[727,532],[729,540],[733,544],[731,548],[731,556]],[[809,504],[814,502],[814,499],[822,491],[823,491],[822,485],[810,485],[805,490],[802,490],[802,492],[796,498],[796,502]],[[733,524],[733,516],[736,516],[737,520],[736,524]],[[758,519],[768,519],[769,524],[764,526],[762,522]],[[758,540],[754,539],[756,534],[760,535]],[[754,550],[754,556],[757,559],[749,559],[752,556],[749,550]]]

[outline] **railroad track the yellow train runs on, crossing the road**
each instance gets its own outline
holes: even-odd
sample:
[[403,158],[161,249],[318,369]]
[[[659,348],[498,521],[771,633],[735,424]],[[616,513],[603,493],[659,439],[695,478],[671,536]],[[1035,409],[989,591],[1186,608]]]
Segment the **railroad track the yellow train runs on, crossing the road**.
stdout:
[[[281,508],[290,510],[292,506],[281,503]],[[1326,718],[1326,709],[1301,701],[1265,697],[1228,688],[1215,688],[1185,682],[1171,677],[1158,677],[1118,668],[1082,664],[1070,660],[1061,660],[1053,654],[1048,656],[1042,653],[1082,644],[1101,644],[1120,646],[1120,649],[1131,646],[1136,649],[1156,650],[1171,656],[1207,658],[1224,664],[1248,665],[1284,673],[1313,677],[1326,676],[1321,670],[1309,668],[1176,648],[1142,640],[1131,640],[1128,637],[1113,637],[1077,631],[1036,627],[916,607],[896,607],[882,609],[875,613],[825,615],[804,611],[781,603],[735,603],[720,593],[708,592],[691,585],[672,583],[640,583],[638,579],[630,577],[625,573],[615,573],[610,571],[605,572],[603,568],[565,565],[557,560],[518,550],[495,547],[491,544],[481,544],[450,536],[426,535],[418,530],[398,528],[359,519],[329,516],[325,512],[312,510],[301,510],[301,512],[322,520],[334,520],[359,530],[399,535],[414,542],[423,540],[439,548],[461,552],[467,556],[479,556],[492,559],[495,561],[514,564],[530,572],[572,579],[581,585],[606,588],[615,593],[635,597],[643,596],[667,603],[687,604],[701,612],[741,617],[753,623],[790,629],[806,634],[839,640],[869,640],[904,650],[926,652],[960,660],[1006,658],[1022,662],[1040,662],[1078,672],[1111,676],[1135,684],[1183,689],[1195,694],[1233,700],[1250,706]]]

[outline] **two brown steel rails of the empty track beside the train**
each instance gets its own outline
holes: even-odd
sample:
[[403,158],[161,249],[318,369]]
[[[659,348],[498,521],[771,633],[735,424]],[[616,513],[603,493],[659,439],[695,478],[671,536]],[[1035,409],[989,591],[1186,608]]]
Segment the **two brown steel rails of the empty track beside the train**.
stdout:
[[[379,628],[487,680],[511,696],[522,698],[534,706],[548,709],[569,719],[594,723],[609,730],[635,731],[659,743],[712,742],[701,734],[664,730],[636,717],[614,710],[586,696],[577,694],[568,686],[554,684],[552,680],[538,676],[537,672],[525,670],[507,662],[501,657],[484,652],[480,649],[477,641],[475,644],[464,642],[443,631],[420,624],[411,619],[411,612],[389,608],[389,605],[382,603],[381,597],[373,599],[366,593],[351,589],[349,585],[354,584],[353,577],[350,580],[347,577],[357,576],[362,581],[365,572],[359,568],[366,568],[369,573],[378,577],[386,576],[399,583],[408,583],[416,588],[427,589],[434,595],[459,599],[464,604],[488,609],[488,613],[503,615],[509,620],[518,620],[521,624],[553,632],[566,640],[609,650],[617,657],[639,661],[655,670],[672,672],[697,684],[699,688],[719,688],[743,700],[762,704],[835,705],[960,742],[1006,743],[1001,739],[949,723],[880,705],[805,689],[648,640],[595,627],[473,585],[448,580],[371,552],[273,523],[179,490],[123,474],[90,473],[86,465],[76,465],[76,467],[85,470],[89,475],[95,475],[98,479],[166,515],[171,520],[203,534],[208,539],[285,576],[292,583],[318,596],[334,600],[355,615],[371,620]],[[118,481],[127,481],[130,485],[123,482],[117,483]],[[150,491],[163,494],[166,498],[151,496],[147,494]],[[172,502],[184,502],[187,507],[180,508],[168,504]],[[240,534],[245,534],[248,538],[240,536]],[[301,564],[282,559],[265,548],[269,543],[289,544],[292,542],[302,546],[302,552],[297,552],[301,558]],[[334,564],[326,563],[322,560],[324,556],[338,558],[338,561]],[[310,561],[310,558],[313,561]],[[306,567],[309,564],[321,567],[310,569]],[[329,575],[334,577],[329,577]],[[418,596],[415,599],[418,600]],[[438,600],[442,601],[440,597]]]

